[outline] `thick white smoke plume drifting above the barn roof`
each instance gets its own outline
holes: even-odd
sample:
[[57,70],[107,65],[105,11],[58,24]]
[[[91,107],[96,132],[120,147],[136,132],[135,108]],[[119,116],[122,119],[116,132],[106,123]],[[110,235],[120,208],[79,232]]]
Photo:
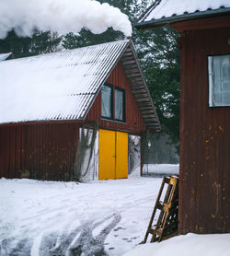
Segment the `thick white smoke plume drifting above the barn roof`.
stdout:
[[0,39],[15,29],[18,36],[31,36],[34,29],[61,34],[86,28],[102,33],[109,27],[132,35],[129,18],[119,8],[91,0],[2,0]]

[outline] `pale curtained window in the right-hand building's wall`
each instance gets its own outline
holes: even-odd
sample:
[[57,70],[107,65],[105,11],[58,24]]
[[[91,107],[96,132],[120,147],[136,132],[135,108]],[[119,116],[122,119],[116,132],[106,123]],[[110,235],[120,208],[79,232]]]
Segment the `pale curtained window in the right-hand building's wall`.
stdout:
[[230,106],[230,54],[209,56],[209,106]]

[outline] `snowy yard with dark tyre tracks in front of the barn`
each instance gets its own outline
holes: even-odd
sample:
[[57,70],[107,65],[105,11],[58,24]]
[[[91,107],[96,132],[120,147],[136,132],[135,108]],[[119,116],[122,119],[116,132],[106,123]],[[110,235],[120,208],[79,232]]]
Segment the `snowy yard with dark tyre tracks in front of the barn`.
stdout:
[[0,255],[122,255],[142,241],[161,180],[1,179]]

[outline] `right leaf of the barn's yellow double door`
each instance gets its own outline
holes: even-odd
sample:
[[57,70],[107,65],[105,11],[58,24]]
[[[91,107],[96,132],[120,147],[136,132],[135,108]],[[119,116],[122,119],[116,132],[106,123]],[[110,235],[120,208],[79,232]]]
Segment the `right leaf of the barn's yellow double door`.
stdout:
[[128,134],[116,132],[116,179],[128,177]]

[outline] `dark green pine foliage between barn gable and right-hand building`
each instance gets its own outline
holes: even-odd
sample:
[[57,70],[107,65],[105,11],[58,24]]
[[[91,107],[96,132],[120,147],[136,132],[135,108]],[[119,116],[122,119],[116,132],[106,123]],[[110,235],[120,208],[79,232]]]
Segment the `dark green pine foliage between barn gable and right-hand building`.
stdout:
[[136,31],[133,41],[163,132],[179,140],[180,54],[178,32],[170,27]]

